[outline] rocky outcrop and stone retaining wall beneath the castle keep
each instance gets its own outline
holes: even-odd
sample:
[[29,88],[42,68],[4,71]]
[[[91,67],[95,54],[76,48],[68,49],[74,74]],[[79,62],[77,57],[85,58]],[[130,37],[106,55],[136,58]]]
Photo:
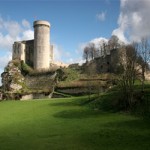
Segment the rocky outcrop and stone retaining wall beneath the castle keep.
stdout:
[[51,98],[55,87],[55,72],[24,74],[21,62],[12,60],[5,67],[2,77],[2,99]]

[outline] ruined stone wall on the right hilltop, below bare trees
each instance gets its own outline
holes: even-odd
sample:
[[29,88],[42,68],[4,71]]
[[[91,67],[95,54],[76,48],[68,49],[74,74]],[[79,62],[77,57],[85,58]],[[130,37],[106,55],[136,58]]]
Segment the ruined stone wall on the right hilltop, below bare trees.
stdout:
[[120,45],[104,45],[99,49],[94,49],[93,58],[85,63],[85,68],[96,73],[116,73],[122,55],[120,47]]

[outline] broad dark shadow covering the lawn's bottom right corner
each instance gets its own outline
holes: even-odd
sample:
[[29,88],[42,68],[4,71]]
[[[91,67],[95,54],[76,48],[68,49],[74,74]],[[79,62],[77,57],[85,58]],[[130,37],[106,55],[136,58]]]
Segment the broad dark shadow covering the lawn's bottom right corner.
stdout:
[[108,123],[100,124],[97,130],[82,134],[78,140],[85,145],[90,143],[88,149],[94,150],[149,150],[149,123],[139,118],[112,119]]

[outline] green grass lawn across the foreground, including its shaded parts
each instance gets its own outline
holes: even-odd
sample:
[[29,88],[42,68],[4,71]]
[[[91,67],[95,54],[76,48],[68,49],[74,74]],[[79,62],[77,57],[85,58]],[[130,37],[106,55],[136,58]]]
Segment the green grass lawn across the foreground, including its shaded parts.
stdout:
[[0,150],[149,150],[150,122],[81,98],[0,102]]

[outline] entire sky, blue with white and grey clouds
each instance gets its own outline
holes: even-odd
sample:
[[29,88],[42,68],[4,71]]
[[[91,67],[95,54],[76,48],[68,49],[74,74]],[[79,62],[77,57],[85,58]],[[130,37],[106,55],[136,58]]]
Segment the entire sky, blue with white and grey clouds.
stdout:
[[51,24],[55,61],[80,63],[91,41],[149,36],[150,0],[0,0],[0,73],[11,60],[14,41],[34,38],[35,20]]

